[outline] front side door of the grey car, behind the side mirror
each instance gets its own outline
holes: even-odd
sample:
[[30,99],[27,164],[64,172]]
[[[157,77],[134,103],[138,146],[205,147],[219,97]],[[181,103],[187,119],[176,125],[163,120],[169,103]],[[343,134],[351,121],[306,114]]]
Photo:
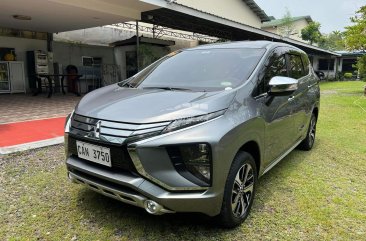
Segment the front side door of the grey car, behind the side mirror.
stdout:
[[269,81],[274,76],[288,77],[287,48],[276,48],[268,57],[258,78],[257,101],[261,102],[261,116],[265,122],[264,165],[281,156],[293,142],[293,106],[291,96],[271,96]]

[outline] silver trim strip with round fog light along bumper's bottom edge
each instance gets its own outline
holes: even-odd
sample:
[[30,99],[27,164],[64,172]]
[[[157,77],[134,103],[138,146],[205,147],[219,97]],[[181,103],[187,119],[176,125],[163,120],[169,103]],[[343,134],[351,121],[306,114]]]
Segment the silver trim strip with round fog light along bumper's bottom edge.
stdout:
[[[103,194],[105,196],[117,199],[121,202],[127,203],[127,204],[131,204],[140,208],[144,208],[145,209],[145,201],[149,200],[148,198],[142,196],[142,195],[136,195],[136,194],[131,194],[128,192],[123,192],[120,190],[116,190],[114,188],[110,188],[107,187],[105,185],[90,181],[86,178],[83,178],[75,173],[69,172],[68,173],[69,179],[72,182],[78,183],[78,184],[83,184],[85,185],[87,188],[98,192],[100,194]],[[127,197],[127,198],[126,198]],[[160,204],[159,204],[160,205]],[[172,210],[166,209],[166,208],[162,208],[159,210],[159,213],[156,214],[164,214],[164,213],[175,213]]]

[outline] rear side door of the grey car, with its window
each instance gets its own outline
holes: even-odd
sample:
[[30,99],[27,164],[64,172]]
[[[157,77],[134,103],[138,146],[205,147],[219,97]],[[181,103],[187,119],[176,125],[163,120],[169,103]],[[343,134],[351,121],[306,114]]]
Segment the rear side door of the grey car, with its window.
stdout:
[[290,50],[287,53],[289,77],[298,80],[298,89],[291,95],[292,115],[293,115],[293,134],[292,143],[301,140],[304,131],[307,129],[306,114],[308,107],[308,86],[309,86],[309,69],[305,71],[304,62],[301,53],[297,50]]

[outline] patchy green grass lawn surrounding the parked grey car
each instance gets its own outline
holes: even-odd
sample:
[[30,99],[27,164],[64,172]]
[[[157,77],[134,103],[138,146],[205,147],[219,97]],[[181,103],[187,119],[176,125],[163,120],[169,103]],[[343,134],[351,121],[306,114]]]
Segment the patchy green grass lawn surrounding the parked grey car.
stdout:
[[322,83],[317,139],[261,178],[251,215],[151,216],[66,178],[63,147],[0,157],[0,240],[365,240],[364,82]]

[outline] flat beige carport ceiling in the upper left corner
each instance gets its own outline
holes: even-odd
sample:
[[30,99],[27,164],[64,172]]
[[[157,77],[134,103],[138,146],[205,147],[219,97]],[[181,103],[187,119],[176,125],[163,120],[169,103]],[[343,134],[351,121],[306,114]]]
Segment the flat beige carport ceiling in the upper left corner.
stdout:
[[1,0],[0,26],[57,33],[140,20],[141,12],[156,8],[138,0]]

